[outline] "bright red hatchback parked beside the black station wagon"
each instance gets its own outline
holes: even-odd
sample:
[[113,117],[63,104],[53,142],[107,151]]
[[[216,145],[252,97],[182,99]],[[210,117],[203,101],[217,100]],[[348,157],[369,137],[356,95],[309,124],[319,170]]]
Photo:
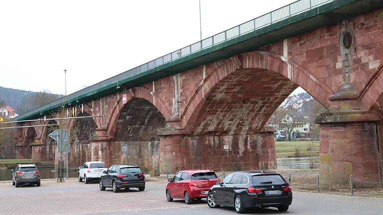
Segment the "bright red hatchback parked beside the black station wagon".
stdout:
[[168,202],[172,202],[174,198],[184,199],[186,204],[192,204],[194,199],[206,198],[210,187],[218,180],[212,170],[180,171],[173,179],[168,180],[166,199]]

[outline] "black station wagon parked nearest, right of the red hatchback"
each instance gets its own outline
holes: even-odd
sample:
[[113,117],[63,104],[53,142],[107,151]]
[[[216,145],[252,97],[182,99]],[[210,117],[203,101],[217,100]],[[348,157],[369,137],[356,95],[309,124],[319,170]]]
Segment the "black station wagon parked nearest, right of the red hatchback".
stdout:
[[238,214],[246,208],[276,207],[287,211],[293,200],[291,187],[277,172],[262,170],[233,172],[212,186],[206,202],[210,208],[233,207]]

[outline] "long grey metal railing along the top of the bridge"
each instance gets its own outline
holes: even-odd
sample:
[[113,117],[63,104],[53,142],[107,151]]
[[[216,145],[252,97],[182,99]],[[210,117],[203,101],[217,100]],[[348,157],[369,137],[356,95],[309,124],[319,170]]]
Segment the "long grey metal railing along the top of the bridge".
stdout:
[[[318,7],[322,4],[325,4],[325,3],[328,3],[331,1],[333,1],[333,0],[298,0],[298,1],[295,1],[291,4],[288,4],[286,6],[279,8],[279,9],[276,9],[274,11],[271,11],[269,13],[261,15],[257,18],[249,20],[245,23],[242,23],[240,25],[232,27],[226,31],[220,32],[220,33],[215,34],[211,37],[203,39],[202,41],[193,43],[190,46],[176,50],[172,53],[169,53],[167,55],[159,57],[153,61],[150,61],[150,62],[145,63],[143,65],[140,65],[136,68],[128,70],[124,73],[116,75],[112,78],[104,80],[100,83],[97,83],[97,84],[92,85],[90,87],[84,88],[80,91],[77,91],[73,94],[70,94],[67,96],[66,102],[71,102],[71,101],[69,101],[70,99],[72,99],[72,100],[76,99],[80,96],[85,95],[87,92],[96,91],[97,89],[107,87],[108,85],[111,85],[114,83],[118,84],[117,82],[119,82],[123,79],[133,77],[133,76],[140,74],[142,72],[145,72],[147,70],[156,68],[158,66],[164,65],[164,64],[172,62],[174,60],[178,60],[178,59],[183,58],[185,56],[191,55],[195,52],[198,52],[198,51],[201,51],[203,49],[212,47],[214,45],[217,45],[219,43],[222,43],[222,42],[228,41],[230,39],[236,38],[240,35],[249,33],[251,31],[255,31],[257,29],[260,29],[260,28],[265,27],[267,25],[270,25],[272,23],[281,21],[283,19],[289,18],[293,15],[302,13],[304,11],[310,10],[314,7]],[[120,82],[120,84],[123,84],[123,83]],[[68,100],[68,98],[69,98],[69,100]],[[29,112],[21,114],[21,115],[15,117],[14,119],[17,120],[18,118],[22,118],[28,114],[41,112],[44,109],[47,109],[47,108],[50,108],[53,106],[57,106],[57,105],[62,104],[64,102],[65,102],[64,98],[58,99],[54,102],[48,103],[48,104],[40,107],[40,108],[35,108]]]

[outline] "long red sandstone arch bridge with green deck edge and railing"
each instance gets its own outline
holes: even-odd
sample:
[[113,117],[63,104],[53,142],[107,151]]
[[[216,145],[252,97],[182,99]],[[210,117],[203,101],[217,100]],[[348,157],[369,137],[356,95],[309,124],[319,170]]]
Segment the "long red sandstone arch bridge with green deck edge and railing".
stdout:
[[[70,110],[83,105],[79,116],[104,115],[68,122],[78,131],[71,142],[71,168],[86,160],[102,160],[136,163],[145,171],[274,169],[275,129],[267,121],[300,86],[328,109],[316,119],[321,183],[337,184],[354,175],[382,186],[383,2],[309,0],[317,4],[308,6],[306,1],[16,120],[41,114],[49,118],[64,101]],[[298,4],[306,7],[292,14]],[[278,14],[285,16],[272,18]],[[265,17],[269,22],[258,26]],[[253,29],[244,32],[246,26]],[[57,121],[18,124],[44,123]],[[18,128],[17,158],[57,160],[57,150],[47,138],[51,130],[51,126]],[[371,186],[360,181],[360,186]]]

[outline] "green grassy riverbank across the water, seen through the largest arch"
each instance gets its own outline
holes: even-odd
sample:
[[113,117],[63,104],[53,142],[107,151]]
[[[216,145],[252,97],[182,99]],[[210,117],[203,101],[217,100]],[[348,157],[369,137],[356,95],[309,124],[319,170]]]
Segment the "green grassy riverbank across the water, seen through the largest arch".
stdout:
[[277,157],[307,157],[309,147],[313,156],[319,156],[319,141],[275,141]]

